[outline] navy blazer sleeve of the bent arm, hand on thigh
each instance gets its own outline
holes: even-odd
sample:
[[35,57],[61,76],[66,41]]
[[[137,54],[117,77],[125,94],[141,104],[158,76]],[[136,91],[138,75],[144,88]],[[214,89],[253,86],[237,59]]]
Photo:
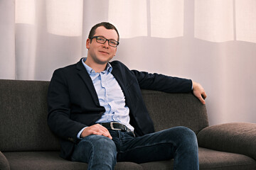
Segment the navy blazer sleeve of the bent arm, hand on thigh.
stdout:
[[70,96],[65,74],[61,69],[55,70],[48,88],[48,125],[56,135],[78,142],[78,132],[85,127],[70,119]]

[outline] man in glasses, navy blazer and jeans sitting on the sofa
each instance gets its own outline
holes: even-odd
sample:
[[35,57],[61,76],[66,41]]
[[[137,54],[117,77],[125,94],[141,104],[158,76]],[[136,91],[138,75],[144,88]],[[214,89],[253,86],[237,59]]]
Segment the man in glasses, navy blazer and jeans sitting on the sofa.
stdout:
[[[110,23],[92,27],[87,58],[55,70],[48,90],[48,125],[60,137],[65,159],[88,169],[114,169],[116,162],[174,158],[174,169],[198,169],[196,135],[185,127],[154,132],[140,89],[193,94],[204,104],[202,86],[188,79],[129,70],[116,55],[119,33]],[[192,90],[193,86],[193,90]]]

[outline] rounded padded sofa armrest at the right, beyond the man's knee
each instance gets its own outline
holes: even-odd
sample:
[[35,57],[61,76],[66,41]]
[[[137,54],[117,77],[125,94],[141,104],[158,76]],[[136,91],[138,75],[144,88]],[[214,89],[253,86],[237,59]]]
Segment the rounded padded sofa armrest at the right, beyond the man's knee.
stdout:
[[198,146],[256,159],[256,123],[225,123],[198,132]]

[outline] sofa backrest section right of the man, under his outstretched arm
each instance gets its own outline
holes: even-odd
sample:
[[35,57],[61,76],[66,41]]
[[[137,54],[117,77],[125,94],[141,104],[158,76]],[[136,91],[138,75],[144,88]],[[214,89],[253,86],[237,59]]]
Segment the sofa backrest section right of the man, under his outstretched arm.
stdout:
[[186,126],[197,134],[209,125],[206,105],[191,93],[166,94],[142,90],[142,95],[156,131]]

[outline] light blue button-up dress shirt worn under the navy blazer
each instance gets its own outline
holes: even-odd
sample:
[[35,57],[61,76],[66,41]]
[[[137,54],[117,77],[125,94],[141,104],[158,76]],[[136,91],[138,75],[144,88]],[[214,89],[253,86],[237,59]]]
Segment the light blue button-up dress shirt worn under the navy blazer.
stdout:
[[[92,79],[100,101],[100,106],[103,106],[106,110],[102,118],[97,120],[96,123],[118,122],[134,131],[132,125],[129,124],[129,108],[125,106],[124,93],[117,80],[111,74],[112,66],[110,63],[107,63],[107,68],[103,72],[97,73],[91,67],[87,66],[85,61],[86,58],[83,58],[82,64],[85,66],[85,69]],[[85,128],[78,133],[78,138],[80,138],[80,134]]]

